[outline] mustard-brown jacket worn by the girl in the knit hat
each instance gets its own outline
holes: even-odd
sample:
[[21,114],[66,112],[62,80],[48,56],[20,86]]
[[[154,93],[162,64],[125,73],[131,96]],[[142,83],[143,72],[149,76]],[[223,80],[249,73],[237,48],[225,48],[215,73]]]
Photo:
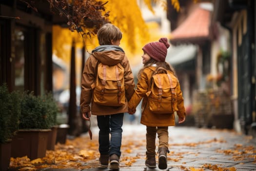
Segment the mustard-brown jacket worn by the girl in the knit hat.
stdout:
[[[147,92],[150,91],[150,77],[152,72],[156,69],[155,66],[146,67],[140,74],[140,79],[138,80],[137,88],[135,93],[133,94],[132,98],[128,103],[129,108],[137,107],[139,102],[142,100],[142,114],[140,123],[146,126],[151,127],[167,127],[167,126],[175,126],[175,114],[174,113],[167,113],[167,114],[157,114],[153,113],[149,110],[148,106],[148,97]],[[177,78],[176,78],[177,79]],[[177,94],[177,101],[175,105],[177,105],[177,115],[179,117],[184,117],[185,107],[182,97],[182,92],[180,90],[180,85],[177,80],[177,86],[175,88]],[[170,104],[171,107],[171,104]]]

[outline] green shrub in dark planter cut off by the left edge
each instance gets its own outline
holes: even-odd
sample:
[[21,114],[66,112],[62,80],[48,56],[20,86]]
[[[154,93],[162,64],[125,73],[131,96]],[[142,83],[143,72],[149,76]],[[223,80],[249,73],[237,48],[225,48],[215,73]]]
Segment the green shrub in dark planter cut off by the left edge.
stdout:
[[7,85],[0,86],[0,170],[6,171],[11,158],[11,141],[18,130],[20,93],[9,93]]

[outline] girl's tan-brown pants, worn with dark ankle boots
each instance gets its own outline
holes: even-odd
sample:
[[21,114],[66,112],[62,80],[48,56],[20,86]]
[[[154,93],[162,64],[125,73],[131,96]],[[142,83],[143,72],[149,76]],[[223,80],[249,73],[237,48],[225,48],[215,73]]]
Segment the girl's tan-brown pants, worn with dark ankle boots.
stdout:
[[146,133],[147,140],[147,154],[156,155],[156,134],[158,133],[159,146],[166,147],[168,149],[168,127],[148,127]]

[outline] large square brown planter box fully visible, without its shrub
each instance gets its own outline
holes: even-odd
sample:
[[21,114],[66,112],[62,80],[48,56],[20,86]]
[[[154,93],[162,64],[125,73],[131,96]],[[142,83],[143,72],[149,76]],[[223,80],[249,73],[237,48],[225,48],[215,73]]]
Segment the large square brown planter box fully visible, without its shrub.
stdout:
[[27,156],[31,160],[45,157],[51,129],[19,129],[12,139],[11,157]]

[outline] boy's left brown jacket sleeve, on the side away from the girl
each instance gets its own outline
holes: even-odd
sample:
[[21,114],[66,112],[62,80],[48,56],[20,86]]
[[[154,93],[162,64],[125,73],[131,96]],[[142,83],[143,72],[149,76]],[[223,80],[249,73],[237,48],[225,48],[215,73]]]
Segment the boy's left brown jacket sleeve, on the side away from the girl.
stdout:
[[80,107],[82,113],[89,112],[91,110],[90,104],[92,99],[92,87],[95,82],[95,64],[92,57],[89,57],[84,65],[82,78],[81,78],[81,96]]

